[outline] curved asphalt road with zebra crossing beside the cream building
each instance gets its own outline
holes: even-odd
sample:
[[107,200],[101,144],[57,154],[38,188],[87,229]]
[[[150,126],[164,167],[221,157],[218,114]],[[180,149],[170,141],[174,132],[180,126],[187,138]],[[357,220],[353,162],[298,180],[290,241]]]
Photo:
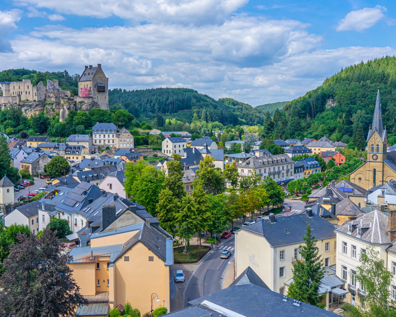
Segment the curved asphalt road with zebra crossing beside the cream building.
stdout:
[[[221,275],[229,259],[234,255],[234,239],[235,235],[232,235],[232,237],[228,239],[222,239],[223,243],[202,260],[202,263],[196,269],[188,284],[184,298],[184,307],[187,306],[190,300],[211,294],[221,289]],[[231,256],[228,260],[220,258],[221,251],[225,249],[231,252]]]

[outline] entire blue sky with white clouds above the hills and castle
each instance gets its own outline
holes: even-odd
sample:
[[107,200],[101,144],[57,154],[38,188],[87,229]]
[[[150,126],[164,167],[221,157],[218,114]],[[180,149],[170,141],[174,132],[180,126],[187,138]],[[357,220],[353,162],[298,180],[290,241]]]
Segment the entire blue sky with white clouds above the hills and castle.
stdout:
[[110,88],[188,87],[256,106],[396,54],[394,1],[0,2],[0,69],[101,63]]

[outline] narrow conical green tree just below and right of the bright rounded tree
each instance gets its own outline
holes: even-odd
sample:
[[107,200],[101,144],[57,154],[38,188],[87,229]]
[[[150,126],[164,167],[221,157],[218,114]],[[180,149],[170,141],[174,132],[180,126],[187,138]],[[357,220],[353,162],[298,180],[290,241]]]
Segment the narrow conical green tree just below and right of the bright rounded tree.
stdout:
[[158,195],[157,217],[160,226],[168,231],[172,237],[177,232],[176,218],[179,212],[179,202],[173,197],[173,193],[169,188],[164,188]]

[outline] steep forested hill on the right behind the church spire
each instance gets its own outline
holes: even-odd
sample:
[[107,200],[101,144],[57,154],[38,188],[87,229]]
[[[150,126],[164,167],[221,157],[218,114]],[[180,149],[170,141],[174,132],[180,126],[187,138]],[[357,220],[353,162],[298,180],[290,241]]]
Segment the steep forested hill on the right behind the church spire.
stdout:
[[265,130],[273,131],[276,137],[282,139],[327,136],[331,140],[345,143],[353,139],[365,139],[373,120],[378,87],[384,124],[388,134],[396,136],[394,56],[366,63],[362,61],[341,69],[315,90],[287,103],[282,113],[275,112],[272,126],[265,127]]

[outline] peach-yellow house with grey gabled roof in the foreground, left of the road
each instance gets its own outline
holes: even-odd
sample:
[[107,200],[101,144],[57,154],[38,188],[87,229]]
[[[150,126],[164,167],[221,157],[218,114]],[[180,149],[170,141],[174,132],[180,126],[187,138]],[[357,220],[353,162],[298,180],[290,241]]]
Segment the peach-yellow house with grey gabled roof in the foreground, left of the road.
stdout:
[[169,311],[172,239],[158,224],[141,218],[136,223],[136,218],[129,210],[116,216],[115,204],[103,205],[104,230],[90,234],[89,227],[79,232],[81,247],[71,250],[69,266],[81,294],[92,298],[90,305],[104,296],[109,309],[129,301],[144,313],[150,311],[151,294],[156,293],[160,301],[154,300],[154,309],[164,306]]

